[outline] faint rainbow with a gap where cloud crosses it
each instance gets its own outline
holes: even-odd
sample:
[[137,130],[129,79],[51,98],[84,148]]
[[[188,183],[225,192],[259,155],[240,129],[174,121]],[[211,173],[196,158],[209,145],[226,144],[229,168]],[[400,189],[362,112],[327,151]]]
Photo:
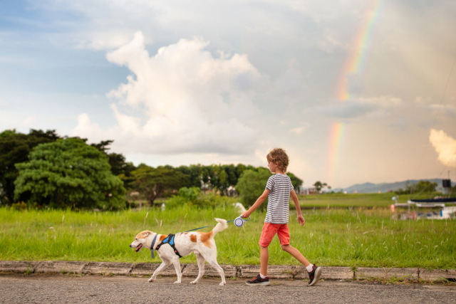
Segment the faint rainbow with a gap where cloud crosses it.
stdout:
[[[368,57],[368,48],[371,45],[373,38],[373,32],[378,19],[383,11],[383,3],[385,0],[374,0],[373,6],[366,13],[363,18],[356,36],[353,38],[353,51],[347,57],[341,76],[338,80],[338,86],[336,90],[338,100],[341,102],[348,100],[351,96],[348,90],[348,75],[356,74],[363,76],[366,68],[366,61]],[[346,125],[343,122],[333,122],[331,126],[331,137],[330,137],[330,153],[329,153],[329,182],[333,183],[338,162],[341,156],[341,147],[343,143],[343,137],[346,133]]]

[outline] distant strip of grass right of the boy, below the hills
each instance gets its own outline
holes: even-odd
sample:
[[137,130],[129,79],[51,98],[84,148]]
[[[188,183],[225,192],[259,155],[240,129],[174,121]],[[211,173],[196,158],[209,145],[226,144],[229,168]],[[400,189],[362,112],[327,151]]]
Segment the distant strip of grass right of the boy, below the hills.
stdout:
[[[398,203],[407,203],[409,199],[430,199],[435,196],[441,196],[440,192],[424,193],[424,194],[403,194],[399,195]],[[398,196],[394,192],[375,193],[375,194],[311,194],[299,195],[301,207],[321,208],[321,207],[388,207],[394,204],[393,196]],[[455,195],[452,195],[455,196]]]

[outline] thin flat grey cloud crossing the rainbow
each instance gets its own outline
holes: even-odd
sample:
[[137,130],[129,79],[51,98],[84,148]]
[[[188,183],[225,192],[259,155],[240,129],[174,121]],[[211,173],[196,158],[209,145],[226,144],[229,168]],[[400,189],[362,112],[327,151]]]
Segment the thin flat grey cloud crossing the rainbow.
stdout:
[[[375,98],[356,98],[347,101],[331,103],[326,107],[316,108],[316,111],[336,118],[355,118],[368,115],[378,110],[395,108],[401,105],[402,100],[393,96]],[[375,115],[374,115],[375,116]],[[384,115],[381,115],[382,117]]]

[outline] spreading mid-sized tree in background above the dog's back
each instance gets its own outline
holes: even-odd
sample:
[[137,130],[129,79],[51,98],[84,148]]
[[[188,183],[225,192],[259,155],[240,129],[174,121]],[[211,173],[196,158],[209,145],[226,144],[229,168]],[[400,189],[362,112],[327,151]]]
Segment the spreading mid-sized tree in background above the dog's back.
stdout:
[[145,196],[150,206],[166,191],[180,189],[188,182],[185,174],[171,166],[153,168],[140,164],[132,174],[135,177],[134,189]]

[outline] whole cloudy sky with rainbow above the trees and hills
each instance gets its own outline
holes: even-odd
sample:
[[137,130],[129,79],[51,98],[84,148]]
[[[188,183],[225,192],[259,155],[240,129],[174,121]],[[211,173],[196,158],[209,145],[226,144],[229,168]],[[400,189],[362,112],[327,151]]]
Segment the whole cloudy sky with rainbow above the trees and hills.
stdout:
[[309,187],[456,179],[456,1],[0,2],[0,130]]

